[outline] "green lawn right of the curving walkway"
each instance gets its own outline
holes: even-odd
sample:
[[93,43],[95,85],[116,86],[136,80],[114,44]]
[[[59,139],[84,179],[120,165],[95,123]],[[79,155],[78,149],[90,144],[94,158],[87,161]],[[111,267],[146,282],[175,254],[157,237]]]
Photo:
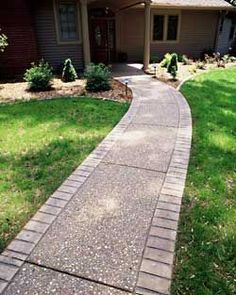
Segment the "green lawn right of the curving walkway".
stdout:
[[236,68],[186,82],[193,146],[173,295],[236,294]]

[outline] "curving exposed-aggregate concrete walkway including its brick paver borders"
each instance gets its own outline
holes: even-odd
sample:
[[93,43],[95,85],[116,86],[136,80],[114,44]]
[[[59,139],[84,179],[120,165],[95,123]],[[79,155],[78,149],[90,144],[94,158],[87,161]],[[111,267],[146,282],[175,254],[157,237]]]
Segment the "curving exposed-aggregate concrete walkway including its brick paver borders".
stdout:
[[173,88],[129,81],[129,112],[0,256],[0,293],[169,294],[191,115]]

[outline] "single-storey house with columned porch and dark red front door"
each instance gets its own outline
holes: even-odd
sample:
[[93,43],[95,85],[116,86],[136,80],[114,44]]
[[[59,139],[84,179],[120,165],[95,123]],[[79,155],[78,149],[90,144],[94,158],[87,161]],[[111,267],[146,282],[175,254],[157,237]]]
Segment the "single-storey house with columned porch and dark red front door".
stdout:
[[8,0],[0,28],[9,46],[0,74],[22,74],[44,58],[60,69],[70,57],[89,62],[140,62],[177,52],[198,58],[227,53],[236,34],[236,8],[224,0]]

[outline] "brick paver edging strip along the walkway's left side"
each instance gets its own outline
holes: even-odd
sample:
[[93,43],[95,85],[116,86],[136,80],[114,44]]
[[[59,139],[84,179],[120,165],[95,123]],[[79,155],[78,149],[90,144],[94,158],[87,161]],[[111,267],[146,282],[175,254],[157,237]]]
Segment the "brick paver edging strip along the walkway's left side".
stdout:
[[20,267],[27,260],[35,246],[42,239],[52,223],[68,205],[79,188],[90,177],[95,168],[111,150],[114,143],[132,122],[140,102],[134,99],[121,121],[83,161],[83,163],[49,197],[46,203],[24,226],[22,231],[0,255],[0,294],[7,288]]

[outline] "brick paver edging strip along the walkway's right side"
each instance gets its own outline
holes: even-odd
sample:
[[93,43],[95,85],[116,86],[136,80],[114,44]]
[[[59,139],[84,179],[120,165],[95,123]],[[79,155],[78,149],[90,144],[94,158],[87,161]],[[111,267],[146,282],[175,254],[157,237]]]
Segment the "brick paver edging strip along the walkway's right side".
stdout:
[[192,140],[190,107],[180,92],[175,89],[170,92],[179,107],[177,140],[149,230],[136,294],[170,294],[178,221]]

